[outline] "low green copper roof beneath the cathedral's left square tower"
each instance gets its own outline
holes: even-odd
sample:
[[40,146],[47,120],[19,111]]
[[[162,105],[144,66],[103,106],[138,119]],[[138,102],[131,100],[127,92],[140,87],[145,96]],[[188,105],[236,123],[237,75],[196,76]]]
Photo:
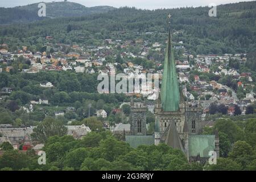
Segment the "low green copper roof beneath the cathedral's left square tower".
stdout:
[[137,148],[142,144],[146,144],[148,146],[155,144],[154,135],[130,135],[125,136],[125,140],[133,148]]

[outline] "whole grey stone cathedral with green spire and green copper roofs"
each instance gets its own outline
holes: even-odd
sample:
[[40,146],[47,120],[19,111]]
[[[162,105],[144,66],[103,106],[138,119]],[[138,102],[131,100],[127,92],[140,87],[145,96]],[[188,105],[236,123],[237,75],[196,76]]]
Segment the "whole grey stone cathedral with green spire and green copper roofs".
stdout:
[[205,163],[210,157],[210,151],[216,151],[217,157],[219,156],[217,132],[216,135],[200,135],[203,128],[200,104],[192,105],[184,101],[179,90],[170,27],[162,86],[154,112],[155,134],[146,135],[146,106],[141,102],[131,101],[131,135],[125,136],[126,142],[131,146],[166,143],[183,151],[189,162]]

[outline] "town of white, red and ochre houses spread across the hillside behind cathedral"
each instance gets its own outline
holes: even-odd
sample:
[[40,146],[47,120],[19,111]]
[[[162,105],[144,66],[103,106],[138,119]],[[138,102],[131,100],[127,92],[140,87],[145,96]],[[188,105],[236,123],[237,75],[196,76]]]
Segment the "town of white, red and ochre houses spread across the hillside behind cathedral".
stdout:
[[[146,34],[150,34],[150,32]],[[46,39],[51,40],[52,38],[47,36]],[[139,50],[133,51],[131,47],[138,47]],[[235,113],[237,112],[236,106],[238,106],[240,114],[247,114],[247,107],[255,101],[254,80],[250,72],[241,72],[239,69],[230,66],[230,61],[236,61],[237,64],[241,65],[246,64],[246,54],[192,55],[183,46],[183,42],[175,43],[173,48],[179,53],[175,62],[183,99],[202,107],[203,114],[201,117],[205,123],[209,124],[211,122],[207,115],[214,113],[210,109],[212,104],[224,105],[226,111],[224,109],[223,114],[237,115]],[[110,75],[110,70],[114,69],[115,72],[124,73],[128,78],[139,77],[142,73],[158,73],[161,80],[163,75],[161,57],[163,57],[164,49],[165,46],[158,42],[148,43],[142,39],[126,41],[106,39],[102,46],[98,47],[48,43],[42,52],[31,52],[26,46],[18,51],[9,52],[9,46],[2,44],[0,49],[0,72],[36,74],[55,71]],[[64,52],[63,50],[69,51]],[[11,66],[17,60],[26,64],[20,65],[19,68]],[[225,77],[231,77],[237,85],[228,86],[224,81],[221,81]],[[39,88],[51,89],[54,86],[51,82],[42,82]],[[6,100],[13,92],[13,88],[0,89],[0,102]],[[147,104],[148,111],[154,113],[154,101],[158,99],[154,93],[127,93],[126,96],[145,98],[149,101]],[[123,104],[130,105],[129,102]],[[122,113],[123,104],[114,109],[114,112]],[[26,113],[32,113],[33,107],[36,105],[54,106],[47,98],[39,98],[39,100],[31,100],[20,109],[26,111]],[[76,113],[76,108],[71,105],[65,109],[57,110],[55,111],[55,117],[64,116],[69,111]],[[110,125],[108,122],[109,114],[104,109],[91,113],[91,115],[103,118],[104,126],[114,134],[122,134],[125,130],[126,134],[129,135],[130,124],[127,123],[127,119],[121,119],[114,125]],[[69,123],[72,123],[72,121]],[[32,142],[30,138],[32,126],[14,128],[12,125],[2,124],[0,127],[2,135],[0,144],[8,141],[13,144],[14,148],[23,144],[23,148],[26,149],[24,143]],[[81,138],[90,132],[89,127],[85,125],[67,127],[69,135],[73,135],[75,138]],[[147,129],[149,127],[148,125]]]

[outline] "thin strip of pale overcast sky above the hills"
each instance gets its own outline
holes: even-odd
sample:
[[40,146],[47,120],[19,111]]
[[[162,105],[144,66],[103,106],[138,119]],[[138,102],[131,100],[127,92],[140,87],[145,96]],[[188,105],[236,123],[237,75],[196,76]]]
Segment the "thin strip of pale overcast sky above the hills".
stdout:
[[[42,0],[0,0],[0,7],[15,7],[23,6],[32,3],[38,3]],[[58,0],[60,1],[60,0]],[[135,6],[141,9],[160,9],[160,8],[172,8],[172,7],[185,7],[185,6],[208,6],[210,3],[216,5],[241,2],[246,0],[71,0],[70,2],[77,2],[87,7],[92,6]],[[247,0],[248,1],[248,0]],[[249,0],[250,1],[250,0]],[[44,0],[43,2],[52,2]],[[57,1],[56,1],[57,2]]]

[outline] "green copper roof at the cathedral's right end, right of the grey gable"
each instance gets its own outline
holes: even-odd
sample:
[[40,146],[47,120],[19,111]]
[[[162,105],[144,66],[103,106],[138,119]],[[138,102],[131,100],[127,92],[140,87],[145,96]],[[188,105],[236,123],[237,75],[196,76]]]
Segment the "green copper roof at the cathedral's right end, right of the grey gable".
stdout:
[[189,156],[197,156],[208,158],[209,151],[214,151],[215,135],[189,135],[188,147]]

